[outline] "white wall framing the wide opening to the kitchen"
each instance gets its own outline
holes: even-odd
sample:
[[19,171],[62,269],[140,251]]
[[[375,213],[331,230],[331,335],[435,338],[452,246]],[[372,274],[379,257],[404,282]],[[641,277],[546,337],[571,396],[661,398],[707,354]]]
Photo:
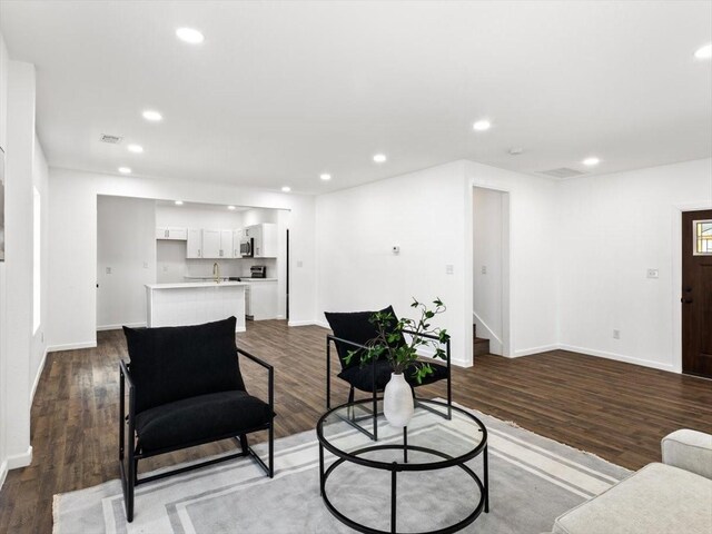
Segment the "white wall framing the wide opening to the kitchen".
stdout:
[[[291,325],[315,318],[314,197],[50,168],[50,349],[96,345],[97,195],[290,210]],[[299,266],[300,265],[300,266]]]

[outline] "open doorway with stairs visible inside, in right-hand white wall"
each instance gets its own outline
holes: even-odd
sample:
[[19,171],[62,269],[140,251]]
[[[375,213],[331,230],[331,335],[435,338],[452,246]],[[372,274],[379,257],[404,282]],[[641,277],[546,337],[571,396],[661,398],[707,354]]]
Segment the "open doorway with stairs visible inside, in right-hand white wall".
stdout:
[[510,194],[473,188],[473,355],[510,356]]

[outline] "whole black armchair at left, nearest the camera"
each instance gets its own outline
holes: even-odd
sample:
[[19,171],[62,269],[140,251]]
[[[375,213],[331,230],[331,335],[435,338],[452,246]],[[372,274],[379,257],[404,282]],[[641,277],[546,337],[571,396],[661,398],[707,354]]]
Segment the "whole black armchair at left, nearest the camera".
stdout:
[[[230,317],[198,326],[123,327],[130,363],[119,365],[119,464],[129,522],[138,484],[240,456],[253,456],[274,476],[274,369],[237,348],[235,324]],[[247,393],[238,355],[267,370],[267,402]],[[269,433],[267,463],[247,442],[257,431]],[[227,438],[239,453],[138,478],[139,459]]]

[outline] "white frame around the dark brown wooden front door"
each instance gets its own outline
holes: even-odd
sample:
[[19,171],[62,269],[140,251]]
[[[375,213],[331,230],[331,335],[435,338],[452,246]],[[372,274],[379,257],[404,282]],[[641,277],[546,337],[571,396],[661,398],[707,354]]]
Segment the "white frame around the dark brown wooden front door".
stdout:
[[[699,211],[712,209],[712,202],[685,202],[672,206],[672,367],[673,372],[682,374],[682,306],[680,297],[682,295],[682,214],[685,211]],[[694,375],[686,375],[694,376]]]

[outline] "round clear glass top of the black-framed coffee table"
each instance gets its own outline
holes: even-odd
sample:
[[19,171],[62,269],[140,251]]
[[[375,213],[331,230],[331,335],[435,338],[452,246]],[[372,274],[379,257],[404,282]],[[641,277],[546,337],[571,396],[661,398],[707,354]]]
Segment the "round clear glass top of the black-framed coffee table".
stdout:
[[[439,415],[447,415],[446,404],[424,399],[417,400],[405,437],[403,428],[388,424],[379,402],[378,441],[374,442],[350,424],[356,418],[358,425],[370,432],[372,406],[372,399],[365,399],[327,412],[317,425],[322,444],[330,453],[350,462],[388,469],[395,462],[399,471],[436,469],[461,464],[475,457],[486,445],[487,431],[474,415],[453,406],[452,418],[447,419]],[[404,456],[404,438],[407,457]]]

